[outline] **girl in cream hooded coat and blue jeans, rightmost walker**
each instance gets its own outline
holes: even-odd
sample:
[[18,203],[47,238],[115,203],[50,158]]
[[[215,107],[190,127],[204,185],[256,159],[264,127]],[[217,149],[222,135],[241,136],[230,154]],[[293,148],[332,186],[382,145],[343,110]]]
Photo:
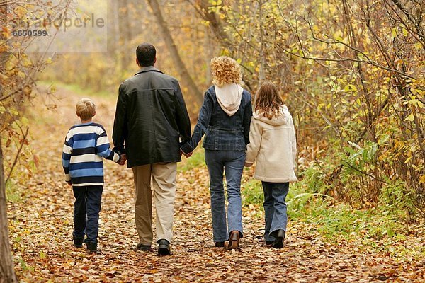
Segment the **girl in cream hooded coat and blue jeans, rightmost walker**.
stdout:
[[254,178],[262,181],[266,244],[282,248],[288,223],[285,198],[289,183],[297,181],[297,142],[293,119],[273,83],[263,83],[256,94],[253,118],[245,166],[256,161]]

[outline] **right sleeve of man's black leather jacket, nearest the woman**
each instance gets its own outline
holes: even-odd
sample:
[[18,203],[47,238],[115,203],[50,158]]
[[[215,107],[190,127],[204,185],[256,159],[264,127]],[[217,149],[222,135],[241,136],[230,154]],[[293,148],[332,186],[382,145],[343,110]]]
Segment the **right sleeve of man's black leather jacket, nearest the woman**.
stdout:
[[176,86],[174,87],[174,95],[176,103],[176,122],[177,127],[179,127],[180,139],[183,142],[191,139],[191,119],[188,115],[188,110],[186,108],[186,103],[183,99],[183,94],[181,93],[181,88],[179,81],[176,81]]

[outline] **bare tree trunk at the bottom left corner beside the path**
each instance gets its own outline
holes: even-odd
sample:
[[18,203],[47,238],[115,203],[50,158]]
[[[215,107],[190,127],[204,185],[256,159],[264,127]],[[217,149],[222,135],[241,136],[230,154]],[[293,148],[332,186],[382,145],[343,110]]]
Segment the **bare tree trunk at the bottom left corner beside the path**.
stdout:
[[0,137],[0,283],[18,282],[13,270],[11,244],[8,237],[6,186],[4,184],[3,151]]

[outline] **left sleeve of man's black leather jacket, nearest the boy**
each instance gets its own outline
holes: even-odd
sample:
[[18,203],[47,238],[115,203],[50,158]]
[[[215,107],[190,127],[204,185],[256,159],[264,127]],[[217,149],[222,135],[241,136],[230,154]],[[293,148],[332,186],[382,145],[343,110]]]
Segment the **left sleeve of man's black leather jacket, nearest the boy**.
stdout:
[[127,96],[125,86],[120,84],[118,89],[117,108],[115,110],[115,119],[113,122],[113,145],[114,151],[118,154],[125,154],[124,142],[127,139]]

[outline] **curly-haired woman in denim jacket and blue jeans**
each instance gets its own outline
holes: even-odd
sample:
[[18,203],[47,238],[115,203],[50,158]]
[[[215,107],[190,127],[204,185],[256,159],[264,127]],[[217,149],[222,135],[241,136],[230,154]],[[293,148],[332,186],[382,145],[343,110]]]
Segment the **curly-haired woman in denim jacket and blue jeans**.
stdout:
[[[242,86],[239,64],[222,56],[211,60],[212,83],[205,92],[198,123],[181,151],[188,155],[205,134],[205,163],[210,173],[212,231],[216,247],[239,248],[242,238],[241,178],[249,144],[251,94]],[[227,181],[227,224],[223,171]]]

